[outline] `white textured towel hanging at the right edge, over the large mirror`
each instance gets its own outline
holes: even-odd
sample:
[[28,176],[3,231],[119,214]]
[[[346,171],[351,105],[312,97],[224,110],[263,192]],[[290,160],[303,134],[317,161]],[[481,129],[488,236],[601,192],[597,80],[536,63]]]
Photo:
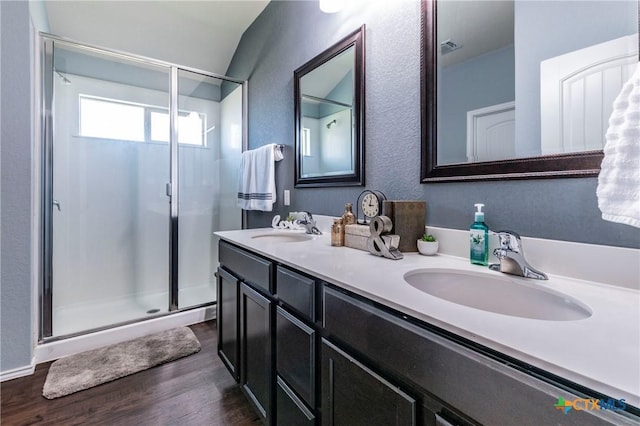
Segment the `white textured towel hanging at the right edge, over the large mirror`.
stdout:
[[640,228],[640,62],[613,103],[598,176],[602,218]]

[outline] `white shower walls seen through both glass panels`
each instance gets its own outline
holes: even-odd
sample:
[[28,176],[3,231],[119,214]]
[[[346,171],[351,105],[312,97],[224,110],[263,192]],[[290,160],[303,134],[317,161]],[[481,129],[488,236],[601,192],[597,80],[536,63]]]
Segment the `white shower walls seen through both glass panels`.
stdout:
[[[234,84],[220,99],[220,81],[183,74],[178,84],[179,191],[173,197],[178,203],[178,256],[173,261],[179,309],[215,302],[213,233],[241,227],[235,190],[243,137],[242,86]],[[166,142],[150,141],[148,135],[138,141],[85,137],[79,118],[83,96],[168,114],[169,93],[68,72],[54,75],[54,90],[53,335],[169,311],[168,117],[160,129]],[[188,120],[190,112],[203,121],[201,145],[182,142],[180,120]],[[126,127],[109,117],[105,122]],[[147,133],[157,130],[151,127]]]

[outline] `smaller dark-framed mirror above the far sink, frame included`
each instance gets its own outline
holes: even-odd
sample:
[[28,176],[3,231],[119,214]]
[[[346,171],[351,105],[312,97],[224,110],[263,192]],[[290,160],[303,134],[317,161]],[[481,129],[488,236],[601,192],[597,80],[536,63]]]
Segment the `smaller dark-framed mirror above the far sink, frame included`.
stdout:
[[293,73],[296,187],[364,185],[364,32]]

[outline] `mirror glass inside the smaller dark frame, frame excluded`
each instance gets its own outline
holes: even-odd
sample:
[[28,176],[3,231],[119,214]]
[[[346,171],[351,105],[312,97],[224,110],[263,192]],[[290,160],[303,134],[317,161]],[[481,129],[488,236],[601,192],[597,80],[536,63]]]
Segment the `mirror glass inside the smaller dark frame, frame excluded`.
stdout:
[[304,75],[302,177],[354,173],[354,65],[352,46]]

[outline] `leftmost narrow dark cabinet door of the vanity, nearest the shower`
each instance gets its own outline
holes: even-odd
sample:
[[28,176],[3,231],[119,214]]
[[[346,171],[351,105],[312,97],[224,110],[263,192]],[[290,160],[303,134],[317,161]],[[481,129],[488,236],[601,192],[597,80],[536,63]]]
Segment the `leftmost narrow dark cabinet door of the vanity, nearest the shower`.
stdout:
[[229,369],[231,375],[240,380],[238,361],[240,359],[238,327],[238,280],[224,269],[218,268],[218,356]]

